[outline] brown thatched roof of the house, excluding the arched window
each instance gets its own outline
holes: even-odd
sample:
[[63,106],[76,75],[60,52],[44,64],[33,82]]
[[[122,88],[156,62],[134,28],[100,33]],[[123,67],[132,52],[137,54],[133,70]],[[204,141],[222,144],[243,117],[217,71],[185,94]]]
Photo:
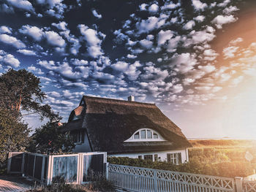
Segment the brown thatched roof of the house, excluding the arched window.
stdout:
[[[134,153],[191,147],[181,129],[155,104],[91,96],[83,96],[80,104],[82,103],[84,103],[84,110],[80,112],[81,119],[75,120],[77,122],[75,123],[70,120],[72,119],[70,117],[70,122],[64,129],[67,131],[86,128],[92,151]],[[124,142],[140,128],[154,129],[167,141]]]

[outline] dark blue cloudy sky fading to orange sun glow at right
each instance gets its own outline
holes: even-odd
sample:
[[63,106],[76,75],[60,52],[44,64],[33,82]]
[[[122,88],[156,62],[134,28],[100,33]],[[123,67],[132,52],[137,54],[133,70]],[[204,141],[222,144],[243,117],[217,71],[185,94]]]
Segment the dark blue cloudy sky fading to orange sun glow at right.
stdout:
[[188,138],[255,139],[255,8],[253,0],[0,0],[0,74],[35,74],[64,122],[83,95],[132,95],[157,104]]

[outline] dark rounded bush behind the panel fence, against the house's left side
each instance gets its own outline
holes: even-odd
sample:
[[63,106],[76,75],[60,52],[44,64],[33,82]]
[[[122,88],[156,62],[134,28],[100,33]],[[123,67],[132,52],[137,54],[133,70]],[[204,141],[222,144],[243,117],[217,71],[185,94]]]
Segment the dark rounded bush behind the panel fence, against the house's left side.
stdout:
[[56,122],[48,122],[37,128],[31,136],[30,151],[37,153],[67,153],[75,144],[69,133],[61,132],[61,126]]

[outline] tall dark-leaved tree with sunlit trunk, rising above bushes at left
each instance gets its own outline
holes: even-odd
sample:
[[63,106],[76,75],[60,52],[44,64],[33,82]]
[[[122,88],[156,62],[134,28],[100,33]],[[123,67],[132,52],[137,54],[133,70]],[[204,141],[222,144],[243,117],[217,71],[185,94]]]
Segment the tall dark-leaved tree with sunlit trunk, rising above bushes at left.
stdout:
[[46,94],[42,92],[40,79],[26,69],[9,69],[0,77],[0,107],[7,108],[13,114],[21,115],[20,110],[30,115],[38,112],[43,117],[56,118],[48,104],[42,105]]

